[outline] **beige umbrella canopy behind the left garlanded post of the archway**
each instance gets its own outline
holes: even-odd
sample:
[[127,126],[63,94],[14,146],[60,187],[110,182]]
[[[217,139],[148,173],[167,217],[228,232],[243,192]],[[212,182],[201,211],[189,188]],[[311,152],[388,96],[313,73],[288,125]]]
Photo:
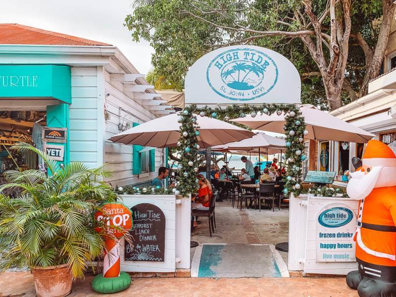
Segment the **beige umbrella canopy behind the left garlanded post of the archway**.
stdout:
[[[177,147],[180,138],[179,113],[153,119],[139,126],[118,133],[112,142],[153,148]],[[209,117],[197,117],[198,145],[208,148],[250,138],[253,132]]]

